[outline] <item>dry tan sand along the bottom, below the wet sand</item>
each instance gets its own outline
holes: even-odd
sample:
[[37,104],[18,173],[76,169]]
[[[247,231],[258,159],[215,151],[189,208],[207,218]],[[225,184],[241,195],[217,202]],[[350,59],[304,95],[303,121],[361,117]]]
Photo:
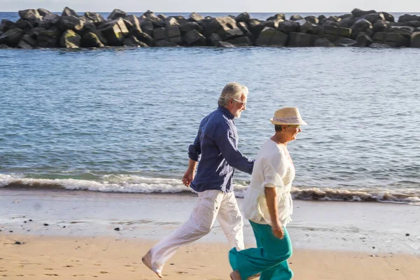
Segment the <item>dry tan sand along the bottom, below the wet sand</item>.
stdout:
[[[15,241],[24,244],[15,244]],[[153,244],[113,237],[0,235],[1,279],[158,279],[141,262]],[[228,245],[195,243],[167,262],[165,279],[229,279]],[[417,280],[420,256],[297,250],[293,279]]]

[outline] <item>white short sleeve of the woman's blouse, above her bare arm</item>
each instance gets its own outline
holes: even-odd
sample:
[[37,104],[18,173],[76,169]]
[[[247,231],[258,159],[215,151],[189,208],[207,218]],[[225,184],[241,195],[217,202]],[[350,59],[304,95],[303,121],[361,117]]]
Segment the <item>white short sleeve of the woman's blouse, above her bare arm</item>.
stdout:
[[286,169],[283,165],[283,156],[276,155],[272,158],[264,158],[263,162],[264,170],[264,183],[262,187],[265,188],[283,188],[283,176],[286,174]]

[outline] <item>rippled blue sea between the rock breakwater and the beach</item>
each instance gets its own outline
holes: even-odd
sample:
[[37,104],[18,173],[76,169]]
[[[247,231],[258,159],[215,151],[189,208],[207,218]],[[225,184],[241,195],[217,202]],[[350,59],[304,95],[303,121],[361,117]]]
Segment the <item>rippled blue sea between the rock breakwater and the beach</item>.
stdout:
[[[0,187],[189,192],[188,145],[237,81],[248,157],[281,106],[309,123],[288,146],[296,199],[420,205],[419,64],[413,48],[0,50]],[[236,172],[238,197],[249,181]]]

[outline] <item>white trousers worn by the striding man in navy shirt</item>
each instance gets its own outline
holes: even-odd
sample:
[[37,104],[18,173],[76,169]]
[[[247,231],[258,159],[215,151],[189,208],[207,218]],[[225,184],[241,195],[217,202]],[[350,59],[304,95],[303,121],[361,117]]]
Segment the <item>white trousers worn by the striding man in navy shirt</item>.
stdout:
[[213,227],[216,218],[225,232],[230,246],[244,249],[244,221],[234,193],[205,190],[198,193],[198,200],[188,221],[148,251],[146,258],[155,272],[162,272],[165,262],[186,244],[204,237]]

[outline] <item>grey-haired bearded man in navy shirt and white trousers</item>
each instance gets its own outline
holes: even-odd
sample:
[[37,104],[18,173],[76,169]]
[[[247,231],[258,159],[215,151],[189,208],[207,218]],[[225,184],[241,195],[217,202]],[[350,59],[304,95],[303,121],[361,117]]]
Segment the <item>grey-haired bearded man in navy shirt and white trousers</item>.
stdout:
[[[246,109],[248,88],[228,83],[218,99],[218,109],[200,123],[194,144],[188,148],[190,158],[183,183],[198,193],[198,200],[188,221],[153,246],[142,258],[144,264],[162,278],[165,262],[181,246],[207,235],[216,218],[230,246],[244,249],[241,212],[233,193],[235,169],[252,174],[253,160],[237,149],[237,130],[234,119]],[[195,176],[197,162],[200,165]]]

